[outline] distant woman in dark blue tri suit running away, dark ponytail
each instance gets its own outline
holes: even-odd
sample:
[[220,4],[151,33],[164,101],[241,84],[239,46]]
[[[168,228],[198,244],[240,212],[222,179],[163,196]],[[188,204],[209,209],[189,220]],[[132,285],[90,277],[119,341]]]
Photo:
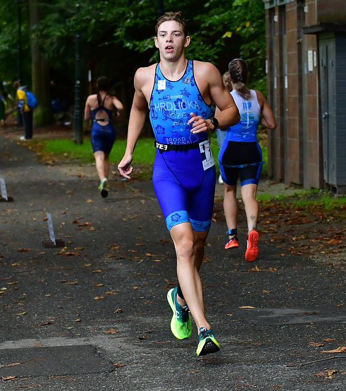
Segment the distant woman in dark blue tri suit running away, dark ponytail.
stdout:
[[109,93],[111,83],[107,77],[101,76],[96,81],[97,93],[89,95],[86,99],[84,117],[92,119],[91,145],[95,156],[96,170],[100,178],[98,189],[102,197],[109,192],[109,153],[115,141],[113,126],[113,111],[116,109],[117,117],[123,113],[122,103]]

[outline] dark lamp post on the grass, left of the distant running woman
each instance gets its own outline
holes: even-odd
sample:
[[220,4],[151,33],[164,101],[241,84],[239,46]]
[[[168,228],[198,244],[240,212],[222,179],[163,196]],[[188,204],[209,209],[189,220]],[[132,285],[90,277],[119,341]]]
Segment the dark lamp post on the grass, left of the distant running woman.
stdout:
[[83,119],[81,113],[81,36],[76,34],[76,65],[74,85],[74,142],[83,143]]

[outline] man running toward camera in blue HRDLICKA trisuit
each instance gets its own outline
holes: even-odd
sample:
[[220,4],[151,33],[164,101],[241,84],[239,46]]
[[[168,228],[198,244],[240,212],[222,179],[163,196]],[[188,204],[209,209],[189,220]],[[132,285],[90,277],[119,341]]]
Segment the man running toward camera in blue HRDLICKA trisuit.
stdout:
[[[235,125],[240,118],[216,67],[185,58],[190,37],[180,12],[167,12],[158,19],[154,41],[160,63],[139,68],[135,74],[127,147],[118,169],[130,178],[133,150],[149,104],[157,149],[153,185],[177,257],[179,284],[167,295],[173,310],[171,330],[178,339],[191,336],[190,309],[200,356],[220,349],[205,318],[198,274],[211,224],[216,180],[207,132]],[[220,113],[210,120],[213,100]]]

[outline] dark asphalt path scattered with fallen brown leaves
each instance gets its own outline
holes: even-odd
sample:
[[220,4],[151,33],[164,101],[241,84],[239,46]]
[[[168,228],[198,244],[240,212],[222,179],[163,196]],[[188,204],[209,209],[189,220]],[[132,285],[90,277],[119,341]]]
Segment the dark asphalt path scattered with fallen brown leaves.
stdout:
[[[217,221],[202,278],[222,350],[197,358],[196,333],[170,332],[175,258],[151,182],[114,180],[102,199],[96,180],[65,172],[0,138],[14,198],[0,203],[0,378],[15,376],[1,391],[345,389],[346,352],[321,353],[346,345],[342,265],[266,244],[256,271],[244,235],[223,250]],[[65,249],[43,248],[46,212]]]

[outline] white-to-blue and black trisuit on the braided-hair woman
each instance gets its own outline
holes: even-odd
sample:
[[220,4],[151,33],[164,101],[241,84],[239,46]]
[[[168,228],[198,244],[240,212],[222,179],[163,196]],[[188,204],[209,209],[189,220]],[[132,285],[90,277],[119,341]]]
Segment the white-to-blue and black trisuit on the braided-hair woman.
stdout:
[[230,186],[237,184],[238,176],[241,186],[250,183],[258,185],[262,171],[262,151],[257,141],[260,105],[256,91],[250,91],[251,98],[248,100],[237,91],[231,91],[239,110],[240,121],[227,128],[226,138],[218,155],[222,179]]

